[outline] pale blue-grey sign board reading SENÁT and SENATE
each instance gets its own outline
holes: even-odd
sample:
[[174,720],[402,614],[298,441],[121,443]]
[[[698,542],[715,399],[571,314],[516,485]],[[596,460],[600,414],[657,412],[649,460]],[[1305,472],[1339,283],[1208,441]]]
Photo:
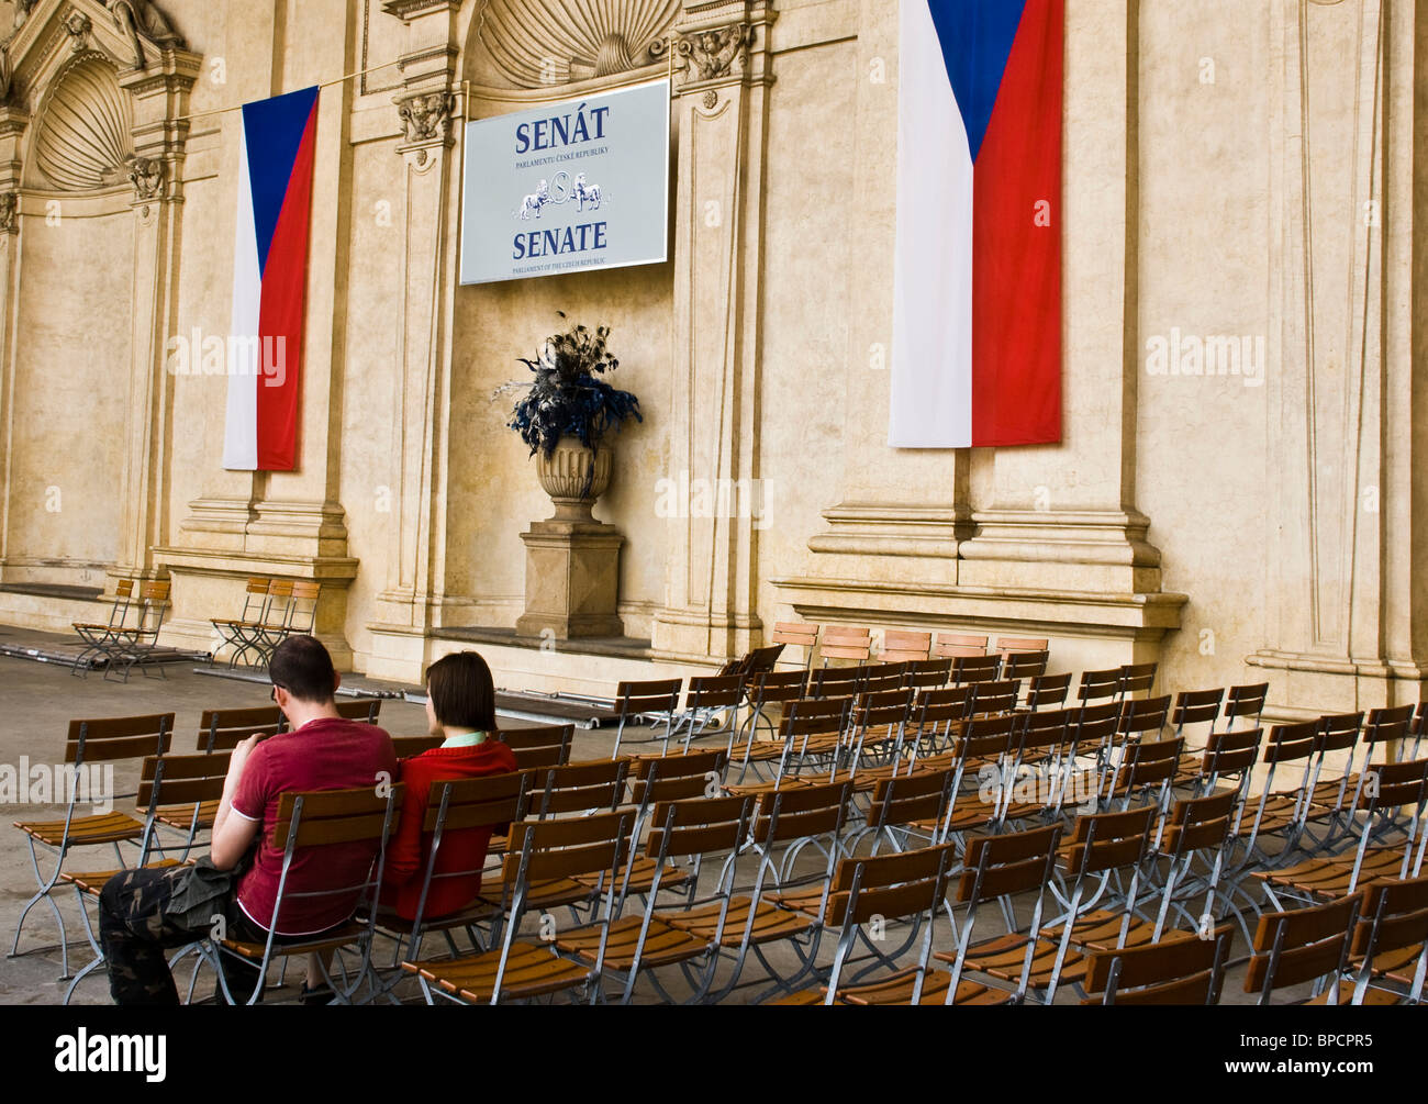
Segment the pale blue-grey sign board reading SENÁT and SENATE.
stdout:
[[466,124],[461,283],[668,256],[670,81]]

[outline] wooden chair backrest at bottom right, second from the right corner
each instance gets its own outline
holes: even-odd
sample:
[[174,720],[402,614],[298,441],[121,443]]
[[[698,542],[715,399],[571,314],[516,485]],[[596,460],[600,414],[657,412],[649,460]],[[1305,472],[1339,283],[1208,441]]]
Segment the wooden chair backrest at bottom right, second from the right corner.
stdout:
[[1277,987],[1299,985],[1332,974],[1331,993],[1348,964],[1349,933],[1358,920],[1364,894],[1354,893],[1328,904],[1288,913],[1261,913],[1254,933],[1254,957],[1245,971],[1245,993],[1258,993],[1268,1004]]

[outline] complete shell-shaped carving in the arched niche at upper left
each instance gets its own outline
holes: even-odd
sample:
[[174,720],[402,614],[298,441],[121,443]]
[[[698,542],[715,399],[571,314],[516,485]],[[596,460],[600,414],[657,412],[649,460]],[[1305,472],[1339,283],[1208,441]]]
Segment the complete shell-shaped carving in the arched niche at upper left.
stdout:
[[134,156],[133,110],[114,69],[81,57],[54,83],[41,109],[34,166],[59,191],[91,191],[120,183]]

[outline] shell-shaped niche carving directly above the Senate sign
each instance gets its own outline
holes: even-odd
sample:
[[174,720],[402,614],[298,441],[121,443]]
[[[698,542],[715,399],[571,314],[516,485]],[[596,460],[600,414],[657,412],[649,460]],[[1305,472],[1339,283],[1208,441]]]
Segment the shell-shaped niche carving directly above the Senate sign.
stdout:
[[481,39],[513,84],[607,77],[650,61],[680,0],[491,0]]

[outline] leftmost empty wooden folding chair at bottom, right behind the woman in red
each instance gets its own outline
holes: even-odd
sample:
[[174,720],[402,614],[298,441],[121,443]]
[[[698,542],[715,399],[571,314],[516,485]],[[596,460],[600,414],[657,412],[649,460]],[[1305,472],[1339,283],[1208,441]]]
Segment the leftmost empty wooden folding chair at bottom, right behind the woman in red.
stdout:
[[[600,995],[610,933],[620,918],[617,874],[628,854],[633,827],[633,811],[513,824],[511,850],[506,854],[501,878],[513,887],[513,894],[500,950],[448,960],[408,960],[401,968],[420,978],[428,1004],[437,994],[457,1004],[501,1004],[570,990],[581,991],[584,1001],[594,1003]],[[541,943],[518,940],[516,934],[527,913],[544,907],[533,900],[533,887],[571,881],[581,874],[601,875],[603,914],[581,928],[600,930],[593,961],[555,954],[553,944],[558,933],[550,931],[545,938],[545,924]]]

